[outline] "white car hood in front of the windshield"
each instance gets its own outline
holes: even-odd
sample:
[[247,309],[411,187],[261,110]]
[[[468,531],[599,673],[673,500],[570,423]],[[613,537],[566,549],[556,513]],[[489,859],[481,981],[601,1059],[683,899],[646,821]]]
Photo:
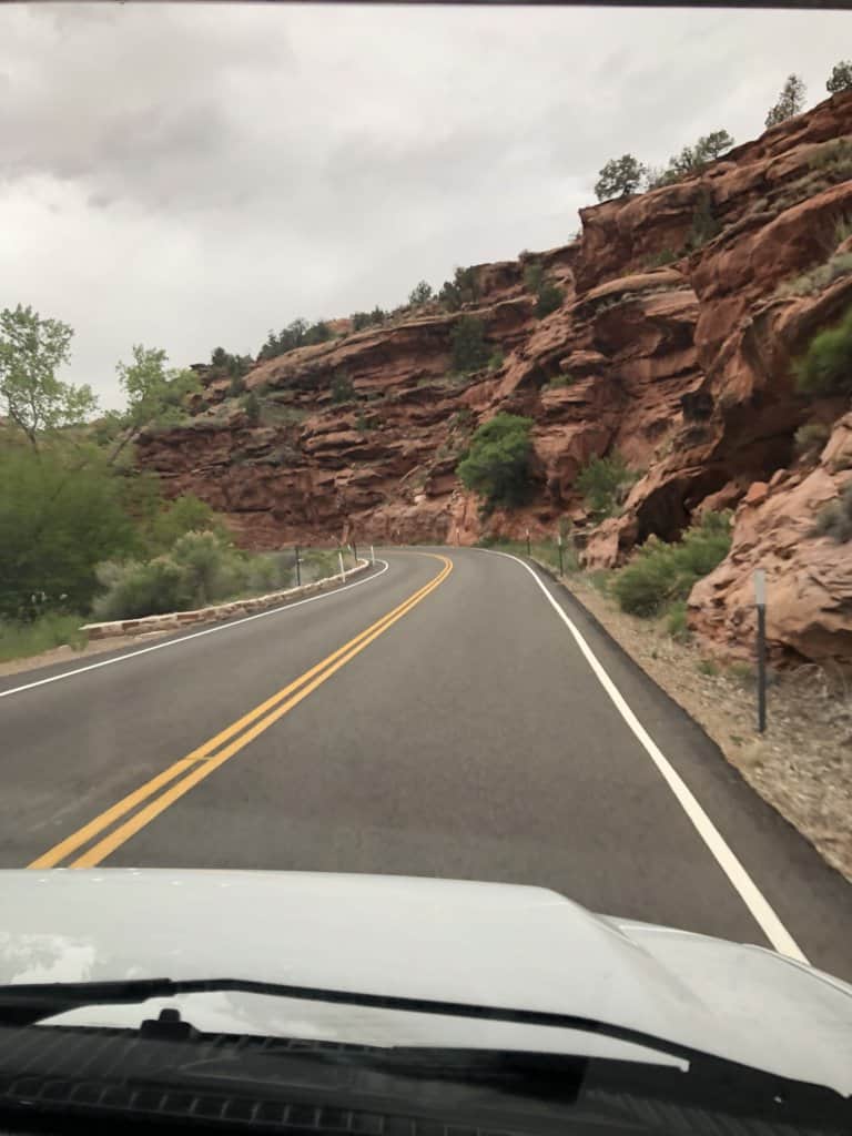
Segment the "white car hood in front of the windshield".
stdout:
[[[0,871],[0,984],[243,978],[628,1026],[852,1094],[852,986],[758,946],[592,914],[537,887],[311,872]],[[649,1056],[544,1027],[194,994],[55,1022]],[[655,1060],[660,1059],[659,1056]]]

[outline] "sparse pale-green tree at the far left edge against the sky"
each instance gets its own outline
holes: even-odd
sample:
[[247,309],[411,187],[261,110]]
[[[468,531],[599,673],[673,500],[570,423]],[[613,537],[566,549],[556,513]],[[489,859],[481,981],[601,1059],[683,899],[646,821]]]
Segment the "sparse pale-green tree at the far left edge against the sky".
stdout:
[[18,304],[0,311],[0,406],[33,449],[47,431],[85,421],[98,402],[89,386],[56,377],[74,332]]

